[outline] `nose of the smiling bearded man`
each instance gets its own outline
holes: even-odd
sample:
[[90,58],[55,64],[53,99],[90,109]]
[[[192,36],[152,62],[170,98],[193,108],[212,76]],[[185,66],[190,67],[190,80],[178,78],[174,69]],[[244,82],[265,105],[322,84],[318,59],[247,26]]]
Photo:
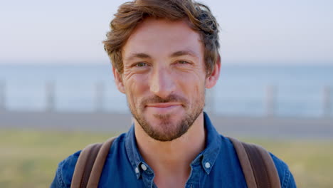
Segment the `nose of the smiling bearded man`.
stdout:
[[168,97],[176,89],[176,83],[167,68],[155,68],[150,78],[150,91],[161,98]]

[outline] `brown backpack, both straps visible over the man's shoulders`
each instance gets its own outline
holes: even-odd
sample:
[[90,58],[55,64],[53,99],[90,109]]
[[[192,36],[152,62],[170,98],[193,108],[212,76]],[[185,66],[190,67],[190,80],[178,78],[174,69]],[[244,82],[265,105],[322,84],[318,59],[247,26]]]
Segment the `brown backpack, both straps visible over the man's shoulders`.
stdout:
[[[96,188],[109,153],[112,137],[104,143],[88,145],[83,149],[75,165],[71,188]],[[267,150],[259,145],[240,142],[228,137],[238,155],[240,166],[249,188],[280,188],[280,179],[275,164]]]

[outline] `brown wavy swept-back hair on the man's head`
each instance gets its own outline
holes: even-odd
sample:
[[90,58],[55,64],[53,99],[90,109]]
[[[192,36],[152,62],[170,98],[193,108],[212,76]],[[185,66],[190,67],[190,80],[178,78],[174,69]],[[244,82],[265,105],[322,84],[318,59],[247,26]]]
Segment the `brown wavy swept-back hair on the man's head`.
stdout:
[[192,0],[135,0],[122,4],[110,23],[107,39],[103,41],[112,66],[123,72],[122,46],[135,26],[147,17],[187,20],[189,26],[199,33],[204,46],[204,60],[208,75],[218,59],[218,23],[208,6]]

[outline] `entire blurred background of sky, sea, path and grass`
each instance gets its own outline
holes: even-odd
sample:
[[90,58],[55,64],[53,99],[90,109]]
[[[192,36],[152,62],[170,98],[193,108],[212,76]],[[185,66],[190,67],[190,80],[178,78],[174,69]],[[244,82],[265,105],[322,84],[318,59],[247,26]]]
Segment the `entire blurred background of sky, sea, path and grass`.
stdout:
[[[127,131],[102,46],[124,2],[1,4],[0,187],[48,187],[65,157]],[[299,187],[332,187],[333,1],[200,2],[221,28],[218,131],[285,160]]]

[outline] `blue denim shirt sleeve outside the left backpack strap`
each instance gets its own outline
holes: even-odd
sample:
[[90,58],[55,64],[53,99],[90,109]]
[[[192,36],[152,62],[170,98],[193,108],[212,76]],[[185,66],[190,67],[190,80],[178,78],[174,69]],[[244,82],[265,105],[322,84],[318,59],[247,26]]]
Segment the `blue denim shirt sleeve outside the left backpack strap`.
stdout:
[[81,151],[75,152],[58,164],[56,176],[51,183],[51,188],[70,188],[74,174],[75,164]]

